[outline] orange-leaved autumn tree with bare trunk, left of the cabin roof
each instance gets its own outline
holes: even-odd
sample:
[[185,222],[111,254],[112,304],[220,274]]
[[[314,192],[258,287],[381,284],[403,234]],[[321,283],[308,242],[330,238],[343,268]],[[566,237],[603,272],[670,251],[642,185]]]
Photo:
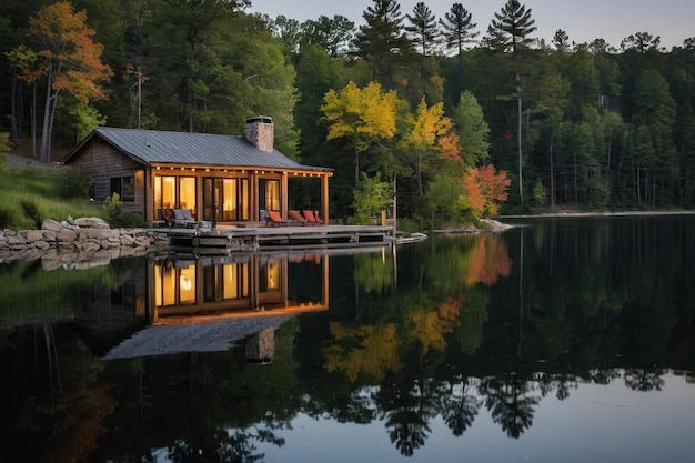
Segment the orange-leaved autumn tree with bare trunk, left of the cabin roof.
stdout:
[[46,78],[43,132],[40,160],[51,158],[51,134],[60,92],[78,101],[105,99],[99,82],[111,77],[111,68],[100,60],[103,46],[92,41],[95,34],[87,27],[87,11],[74,12],[71,3],[61,1],[43,7],[29,19],[29,33],[38,46],[42,76]]

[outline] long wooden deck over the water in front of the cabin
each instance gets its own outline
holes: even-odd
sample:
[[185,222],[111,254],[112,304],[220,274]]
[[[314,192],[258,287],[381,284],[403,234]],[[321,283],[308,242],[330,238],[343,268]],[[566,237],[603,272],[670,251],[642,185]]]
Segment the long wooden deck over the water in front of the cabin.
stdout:
[[393,228],[381,225],[170,229],[169,244],[195,254],[253,252],[283,248],[356,248],[393,242]]

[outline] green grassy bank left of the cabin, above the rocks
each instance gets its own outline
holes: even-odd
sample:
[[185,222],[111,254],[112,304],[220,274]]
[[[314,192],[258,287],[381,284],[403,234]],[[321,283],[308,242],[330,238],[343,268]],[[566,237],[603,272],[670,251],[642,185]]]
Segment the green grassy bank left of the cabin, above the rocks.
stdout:
[[[0,170],[0,228],[26,230],[36,228],[36,217],[29,217],[28,209],[36,207],[42,219],[66,220],[68,215],[102,217],[101,204],[92,204],[85,199],[66,200],[61,198],[61,172],[43,169]],[[27,208],[30,204],[30,208]]]

